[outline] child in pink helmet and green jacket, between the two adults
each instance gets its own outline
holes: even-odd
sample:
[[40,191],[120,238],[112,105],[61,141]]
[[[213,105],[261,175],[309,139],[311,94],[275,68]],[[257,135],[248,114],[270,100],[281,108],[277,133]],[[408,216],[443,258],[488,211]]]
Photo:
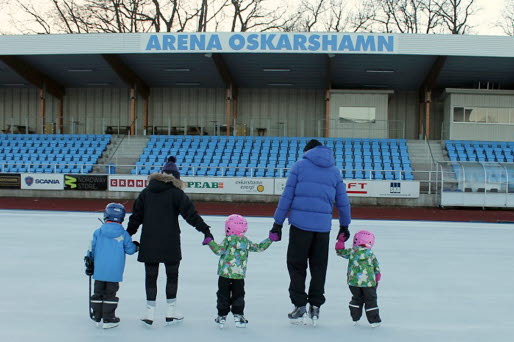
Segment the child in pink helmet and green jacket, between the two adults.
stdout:
[[221,244],[212,238],[205,238],[203,244],[209,245],[214,254],[220,256],[218,263],[218,317],[215,322],[223,328],[230,311],[234,315],[236,327],[245,328],[248,320],[244,317],[244,279],[249,252],[265,251],[271,240],[253,243],[244,236],[248,223],[241,215],[230,215],[225,222],[226,237]]

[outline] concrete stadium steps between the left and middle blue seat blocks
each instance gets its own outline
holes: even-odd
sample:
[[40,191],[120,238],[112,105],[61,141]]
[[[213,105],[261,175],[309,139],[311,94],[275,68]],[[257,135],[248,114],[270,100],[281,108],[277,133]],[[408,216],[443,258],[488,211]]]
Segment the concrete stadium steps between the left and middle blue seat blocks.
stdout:
[[139,156],[143,153],[146,145],[148,145],[148,140],[149,137],[145,136],[125,137],[108,160],[108,163],[118,165],[116,168],[117,174],[130,174],[130,171],[139,160]]

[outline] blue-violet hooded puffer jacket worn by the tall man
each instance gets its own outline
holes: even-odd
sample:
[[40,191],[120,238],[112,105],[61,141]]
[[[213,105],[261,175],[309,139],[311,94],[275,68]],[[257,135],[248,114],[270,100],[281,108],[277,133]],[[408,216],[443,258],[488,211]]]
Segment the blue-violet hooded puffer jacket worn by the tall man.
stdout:
[[317,146],[305,152],[303,159],[291,168],[275,211],[275,222],[283,224],[289,212],[290,224],[303,230],[329,232],[334,201],[340,224],[348,226],[350,201],[341,173],[334,166],[334,152]]

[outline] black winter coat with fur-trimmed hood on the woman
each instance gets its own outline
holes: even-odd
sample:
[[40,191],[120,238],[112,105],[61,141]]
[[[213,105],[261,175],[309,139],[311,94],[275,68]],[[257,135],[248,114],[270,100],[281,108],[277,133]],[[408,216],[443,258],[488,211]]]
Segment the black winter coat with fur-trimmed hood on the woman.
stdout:
[[127,232],[134,235],[140,224],[140,262],[176,262],[182,259],[178,215],[196,230],[210,234],[209,226],[198,215],[184,193],[184,183],[168,174],[154,173],[132,209]]

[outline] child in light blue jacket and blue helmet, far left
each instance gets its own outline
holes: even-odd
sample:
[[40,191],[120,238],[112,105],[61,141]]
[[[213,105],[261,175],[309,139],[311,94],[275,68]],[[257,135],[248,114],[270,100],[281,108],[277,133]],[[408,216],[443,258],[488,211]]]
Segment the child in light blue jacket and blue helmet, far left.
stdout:
[[104,211],[105,223],[94,232],[91,242],[95,279],[91,308],[98,327],[103,319],[104,329],[120,324],[120,319],[115,315],[119,300],[116,292],[120,288],[119,282],[123,281],[125,254],[134,254],[139,246],[123,229],[121,223],[124,218],[125,207],[119,203],[109,203]]

